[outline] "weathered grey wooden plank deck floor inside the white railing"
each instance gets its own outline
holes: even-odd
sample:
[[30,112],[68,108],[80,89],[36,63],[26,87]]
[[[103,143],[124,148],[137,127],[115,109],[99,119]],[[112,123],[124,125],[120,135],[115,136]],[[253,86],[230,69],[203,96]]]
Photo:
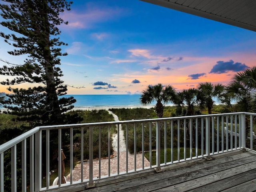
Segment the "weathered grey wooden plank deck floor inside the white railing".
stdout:
[[252,192],[256,191],[256,153],[242,150],[217,154],[213,160],[195,159],[96,182],[95,188],[77,186],[66,191],[83,192]]

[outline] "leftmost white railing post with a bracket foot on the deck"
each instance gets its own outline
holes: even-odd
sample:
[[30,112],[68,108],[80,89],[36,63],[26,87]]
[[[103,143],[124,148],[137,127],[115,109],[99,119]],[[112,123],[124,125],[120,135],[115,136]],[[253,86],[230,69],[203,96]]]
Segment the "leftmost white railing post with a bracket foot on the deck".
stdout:
[[89,127],[89,182],[86,188],[95,187],[93,182],[93,127]]

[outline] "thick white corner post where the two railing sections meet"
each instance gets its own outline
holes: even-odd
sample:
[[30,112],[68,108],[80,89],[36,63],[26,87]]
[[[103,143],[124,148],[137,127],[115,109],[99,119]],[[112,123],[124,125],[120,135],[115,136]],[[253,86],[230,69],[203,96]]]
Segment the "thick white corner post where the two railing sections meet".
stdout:
[[35,191],[42,188],[42,130],[35,134]]

